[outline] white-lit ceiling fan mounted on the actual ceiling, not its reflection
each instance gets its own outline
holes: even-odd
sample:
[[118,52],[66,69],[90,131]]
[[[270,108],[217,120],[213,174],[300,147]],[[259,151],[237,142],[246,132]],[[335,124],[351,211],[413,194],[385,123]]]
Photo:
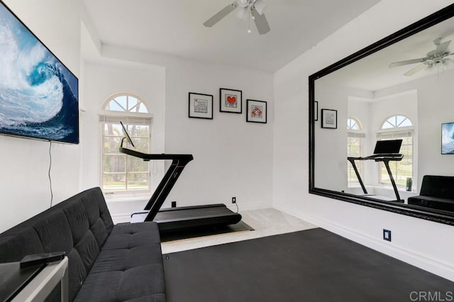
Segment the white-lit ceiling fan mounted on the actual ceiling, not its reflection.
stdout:
[[244,20],[248,20],[249,28],[248,33],[250,33],[250,19],[253,19],[255,26],[257,26],[258,33],[260,35],[265,35],[270,31],[270,26],[268,25],[267,18],[263,11],[265,11],[266,4],[263,0],[235,0],[228,6],[221,9],[214,14],[211,18],[205,21],[204,26],[211,27],[216,23],[221,21],[225,16],[234,11],[239,7],[237,16]]

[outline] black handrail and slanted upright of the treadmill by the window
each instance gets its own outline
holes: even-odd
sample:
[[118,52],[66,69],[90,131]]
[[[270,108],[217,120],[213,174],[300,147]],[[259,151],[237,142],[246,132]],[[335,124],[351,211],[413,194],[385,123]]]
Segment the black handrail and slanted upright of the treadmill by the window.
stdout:
[[172,160],[172,164],[170,164],[169,169],[165,173],[164,177],[162,177],[162,180],[157,185],[155,192],[144,208],[144,210],[150,210],[147,217],[145,218],[145,221],[152,221],[155,218],[157,212],[160,210],[162,204],[164,203],[165,198],[167,198],[167,196],[169,195],[170,190],[172,190],[173,186],[177,182],[179,174],[181,174],[188,162],[194,160],[194,157],[192,157],[191,154],[148,154],[131,150],[122,146],[120,146],[119,152],[126,155],[131,155],[133,157],[141,158],[145,161]]

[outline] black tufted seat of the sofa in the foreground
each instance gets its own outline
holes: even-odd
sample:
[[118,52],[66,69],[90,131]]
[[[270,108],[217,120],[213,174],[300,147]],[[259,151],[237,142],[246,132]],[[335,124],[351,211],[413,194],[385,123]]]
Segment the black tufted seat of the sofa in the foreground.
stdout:
[[165,301],[157,224],[114,225],[75,301]]

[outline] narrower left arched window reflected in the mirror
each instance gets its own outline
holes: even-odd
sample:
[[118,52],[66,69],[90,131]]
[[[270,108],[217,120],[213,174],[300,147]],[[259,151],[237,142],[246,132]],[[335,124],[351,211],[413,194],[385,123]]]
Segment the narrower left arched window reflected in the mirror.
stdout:
[[[362,132],[362,124],[358,118],[347,118],[347,156],[362,157],[363,140],[365,133]],[[357,164],[358,172],[362,174],[362,161]],[[358,177],[353,166],[347,162],[347,184],[348,187],[360,186]]]

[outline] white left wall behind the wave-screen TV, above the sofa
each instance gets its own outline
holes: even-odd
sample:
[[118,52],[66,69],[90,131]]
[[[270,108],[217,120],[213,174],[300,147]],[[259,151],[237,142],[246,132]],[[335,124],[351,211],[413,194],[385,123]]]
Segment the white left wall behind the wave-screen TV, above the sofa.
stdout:
[[[79,77],[79,1],[4,2]],[[0,146],[1,233],[50,206],[50,143],[0,136]],[[51,152],[53,202],[56,203],[79,191],[79,145],[52,142]]]

